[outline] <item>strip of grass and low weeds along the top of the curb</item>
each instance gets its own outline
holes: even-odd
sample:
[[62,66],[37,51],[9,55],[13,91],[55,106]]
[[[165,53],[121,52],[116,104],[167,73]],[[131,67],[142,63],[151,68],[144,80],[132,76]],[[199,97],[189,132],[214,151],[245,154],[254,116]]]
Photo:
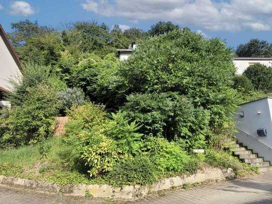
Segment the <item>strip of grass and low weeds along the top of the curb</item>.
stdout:
[[[151,184],[159,178],[171,176],[171,175],[182,175],[184,173],[192,173],[196,168],[215,166],[220,168],[231,167],[234,168],[235,173],[238,177],[247,176],[257,172],[256,168],[251,168],[248,165],[240,163],[236,158],[229,156],[225,152],[208,152],[199,159],[199,163],[195,166],[189,166],[188,171],[175,173],[161,173],[157,172],[156,179],[152,179],[153,176],[149,172],[144,172],[145,175],[139,175],[137,181],[129,179],[129,177],[135,176],[133,170],[128,169],[130,172],[125,171],[125,169],[119,169],[116,174],[121,173],[122,176],[128,176],[127,180],[123,179],[119,181],[118,177],[107,177],[100,176],[96,178],[90,178],[84,170],[71,169],[67,167],[63,157],[69,157],[71,155],[61,155],[60,149],[63,148],[62,138],[56,137],[48,140],[44,144],[47,148],[46,152],[42,150],[43,145],[29,145],[20,147],[18,149],[7,149],[0,151],[0,174],[7,176],[17,176],[35,180],[44,180],[48,182],[54,182],[58,184],[113,184],[113,185],[124,185],[124,184],[135,184],[135,183],[144,183]],[[200,162],[201,161],[201,162]],[[122,166],[126,168],[128,166]],[[136,166],[141,168],[142,166]],[[129,167],[128,167],[129,168]],[[138,169],[141,171],[140,169]],[[150,169],[143,169],[143,171],[150,171]],[[124,173],[129,173],[133,175],[127,175]],[[135,172],[137,173],[137,172]],[[151,177],[149,177],[151,176]],[[116,179],[116,180],[115,180]],[[142,180],[141,180],[142,179]]]

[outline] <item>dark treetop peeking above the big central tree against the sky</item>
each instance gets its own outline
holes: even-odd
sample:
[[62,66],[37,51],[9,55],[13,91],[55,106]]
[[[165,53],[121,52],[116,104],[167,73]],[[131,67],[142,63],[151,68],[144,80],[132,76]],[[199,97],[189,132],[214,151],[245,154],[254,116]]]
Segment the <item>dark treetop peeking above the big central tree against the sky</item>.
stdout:
[[151,26],[151,29],[148,31],[148,34],[151,36],[157,36],[179,28],[180,27],[178,25],[174,25],[172,24],[172,22],[160,21],[159,23]]

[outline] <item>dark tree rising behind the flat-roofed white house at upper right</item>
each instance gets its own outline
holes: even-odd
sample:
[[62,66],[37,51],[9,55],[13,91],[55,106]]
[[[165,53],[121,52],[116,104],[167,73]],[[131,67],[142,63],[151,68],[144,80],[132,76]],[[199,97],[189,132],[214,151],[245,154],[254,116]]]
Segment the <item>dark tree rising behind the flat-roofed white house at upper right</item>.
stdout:
[[266,41],[251,39],[248,43],[239,45],[236,54],[239,57],[270,57],[272,56],[272,45]]

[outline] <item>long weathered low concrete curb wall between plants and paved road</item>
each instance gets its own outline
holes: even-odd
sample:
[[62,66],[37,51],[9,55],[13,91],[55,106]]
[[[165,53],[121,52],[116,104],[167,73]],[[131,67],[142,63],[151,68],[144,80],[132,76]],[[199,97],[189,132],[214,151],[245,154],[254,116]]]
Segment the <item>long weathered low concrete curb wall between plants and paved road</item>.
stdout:
[[67,195],[84,196],[87,192],[94,197],[112,197],[112,198],[135,198],[147,195],[150,192],[169,189],[171,187],[183,186],[185,183],[193,184],[196,182],[222,180],[225,178],[234,178],[235,174],[231,168],[203,168],[189,176],[175,176],[165,178],[157,183],[148,186],[125,185],[123,187],[113,187],[107,184],[79,184],[79,185],[57,185],[44,181],[18,178],[14,176],[0,175],[0,184],[9,185],[18,188],[32,189],[39,192],[64,193]]

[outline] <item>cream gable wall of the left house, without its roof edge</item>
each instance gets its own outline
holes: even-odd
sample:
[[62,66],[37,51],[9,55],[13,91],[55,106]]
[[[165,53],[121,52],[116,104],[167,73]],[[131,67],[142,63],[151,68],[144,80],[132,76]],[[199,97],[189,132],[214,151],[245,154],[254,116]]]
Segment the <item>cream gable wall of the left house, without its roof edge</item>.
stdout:
[[10,51],[0,37],[0,86],[9,89],[9,79],[16,80],[18,77],[21,77],[21,75]]

